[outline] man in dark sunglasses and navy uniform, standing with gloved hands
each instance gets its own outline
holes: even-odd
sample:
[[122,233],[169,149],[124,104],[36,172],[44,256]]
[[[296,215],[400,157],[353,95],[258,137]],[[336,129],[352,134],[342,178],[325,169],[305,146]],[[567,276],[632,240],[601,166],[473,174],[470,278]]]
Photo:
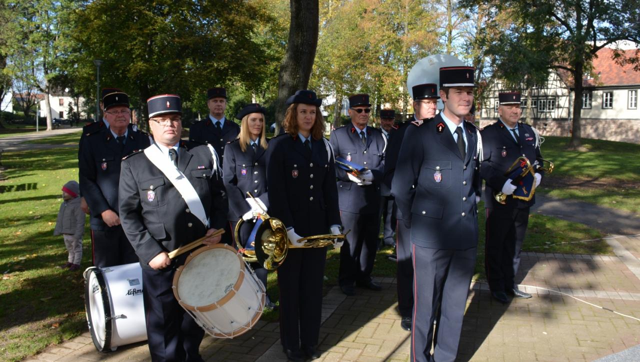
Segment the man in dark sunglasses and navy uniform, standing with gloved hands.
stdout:
[[371,280],[371,271],[378,250],[380,181],[387,138],[367,125],[369,114],[369,95],[349,97],[351,124],[333,130],[331,135],[335,157],[367,168],[358,175],[335,168],[342,225],[344,230],[351,230],[340,248],[339,283],[346,295],[355,295],[354,283],[357,287],[381,290]]

